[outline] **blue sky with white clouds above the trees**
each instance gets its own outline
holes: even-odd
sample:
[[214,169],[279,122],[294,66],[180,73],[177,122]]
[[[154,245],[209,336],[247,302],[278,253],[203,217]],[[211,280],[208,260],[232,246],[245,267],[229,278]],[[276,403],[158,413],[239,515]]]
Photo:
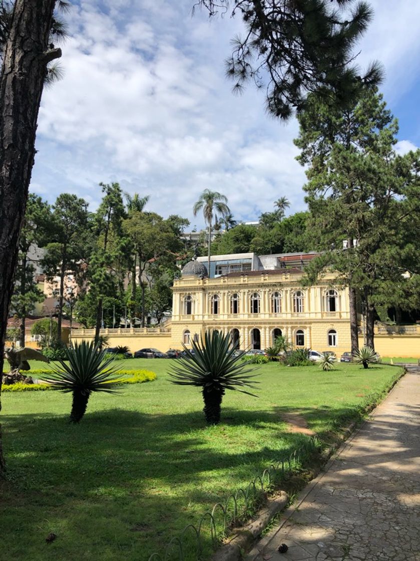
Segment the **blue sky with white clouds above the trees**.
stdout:
[[[223,192],[236,219],[255,220],[287,196],[303,210],[303,169],[294,160],[294,119],[267,117],[264,95],[239,97],[224,77],[241,22],[192,0],[82,1],[66,16],[64,78],[41,103],[31,191],[53,203],[63,191],[99,203],[98,183],[150,195],[149,210],[192,216],[205,188]],[[358,62],[385,66],[382,86],[399,118],[398,150],[420,145],[420,2],[374,0]]]

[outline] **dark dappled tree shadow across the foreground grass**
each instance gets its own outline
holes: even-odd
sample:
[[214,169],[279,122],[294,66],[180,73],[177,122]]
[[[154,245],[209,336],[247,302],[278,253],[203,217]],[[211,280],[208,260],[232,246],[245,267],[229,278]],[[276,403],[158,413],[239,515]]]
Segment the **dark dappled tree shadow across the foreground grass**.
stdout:
[[[285,412],[328,425],[349,408],[224,407],[214,427],[201,411],[110,409],[87,413],[80,425],[47,413],[4,416],[10,557],[148,559],[229,491],[307,442],[287,431]],[[59,539],[40,548],[51,531]]]

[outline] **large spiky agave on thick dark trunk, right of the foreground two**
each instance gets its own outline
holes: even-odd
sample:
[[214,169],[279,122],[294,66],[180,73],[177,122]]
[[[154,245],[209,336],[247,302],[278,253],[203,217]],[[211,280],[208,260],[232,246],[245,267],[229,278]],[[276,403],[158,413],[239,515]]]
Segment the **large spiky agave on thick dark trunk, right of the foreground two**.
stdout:
[[173,384],[193,385],[202,388],[204,415],[209,424],[216,425],[220,421],[221,401],[225,390],[232,389],[255,394],[243,388],[255,388],[258,382],[251,381],[256,374],[247,362],[241,362],[244,351],[232,348],[230,335],[219,332],[206,332],[200,342],[192,341],[192,350],[184,347],[184,356],[177,360],[169,375]]

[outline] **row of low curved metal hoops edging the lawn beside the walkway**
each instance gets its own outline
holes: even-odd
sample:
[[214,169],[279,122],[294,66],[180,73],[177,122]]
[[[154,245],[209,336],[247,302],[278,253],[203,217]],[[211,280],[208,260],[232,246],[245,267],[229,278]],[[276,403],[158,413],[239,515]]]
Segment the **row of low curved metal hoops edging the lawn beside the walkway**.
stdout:
[[[236,493],[230,493],[224,503],[216,503],[213,509],[211,509],[211,512],[207,511],[202,515],[198,526],[188,524],[184,527],[179,536],[172,537],[172,539],[169,540],[163,556],[160,553],[152,553],[148,561],[169,561],[169,559],[171,559],[171,554],[174,553],[176,553],[176,557],[173,557],[174,559],[186,561],[184,537],[188,533],[188,530],[191,530],[193,537],[195,537],[196,559],[199,559],[202,551],[201,531],[205,526],[205,522],[207,522],[207,518],[210,523],[211,542],[213,547],[215,547],[218,540],[226,535],[228,528],[240,521],[242,517],[249,512],[249,509],[255,505],[256,499],[270,489],[276,475],[279,473],[284,475],[285,472],[292,472],[292,466],[301,461],[302,453],[308,454],[309,452],[313,452],[316,448],[316,440],[311,436],[308,442],[294,450],[288,458],[271,464],[261,475],[257,475],[255,479],[250,481],[245,489],[239,488]],[[243,504],[241,502],[241,508],[239,509],[240,496],[241,500],[243,500]],[[219,531],[218,526],[220,522],[218,522],[218,520],[220,514],[218,514],[218,511],[221,513],[221,530]]]

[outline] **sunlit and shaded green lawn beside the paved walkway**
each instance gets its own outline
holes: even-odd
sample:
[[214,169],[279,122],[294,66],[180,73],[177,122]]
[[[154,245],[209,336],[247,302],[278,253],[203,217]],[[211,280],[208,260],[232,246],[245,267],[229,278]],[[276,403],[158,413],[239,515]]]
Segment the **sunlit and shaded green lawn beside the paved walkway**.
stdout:
[[[301,445],[307,437],[288,432],[282,413],[301,413],[322,438],[398,373],[386,365],[340,364],[330,373],[264,365],[259,398],[228,392],[221,424],[207,427],[199,389],[171,384],[171,362],[124,361],[124,369],[154,370],[158,379],[119,395],[94,394],[80,425],[67,423],[70,394],[4,394],[7,559],[147,560],[230,490]],[[57,539],[47,544],[50,532]]]

